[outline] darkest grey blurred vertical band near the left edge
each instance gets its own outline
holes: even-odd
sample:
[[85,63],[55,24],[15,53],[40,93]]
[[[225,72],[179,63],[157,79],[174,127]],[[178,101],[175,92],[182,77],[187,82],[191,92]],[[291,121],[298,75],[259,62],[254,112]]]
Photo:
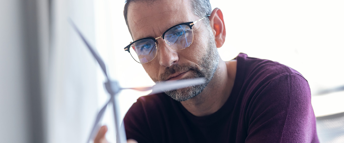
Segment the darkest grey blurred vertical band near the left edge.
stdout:
[[42,71],[40,60],[39,39],[39,1],[21,1],[23,12],[23,52],[26,84],[26,102],[28,103],[28,135],[32,143],[43,143],[43,116],[42,116]]

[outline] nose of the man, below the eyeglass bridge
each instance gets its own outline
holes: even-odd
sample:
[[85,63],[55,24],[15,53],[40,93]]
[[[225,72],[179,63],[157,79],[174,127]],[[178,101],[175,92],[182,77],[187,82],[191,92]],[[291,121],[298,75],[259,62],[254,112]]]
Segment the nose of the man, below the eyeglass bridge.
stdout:
[[162,38],[160,39],[160,44],[158,44],[157,56],[159,57],[160,65],[164,67],[170,67],[179,60],[177,51],[171,49]]

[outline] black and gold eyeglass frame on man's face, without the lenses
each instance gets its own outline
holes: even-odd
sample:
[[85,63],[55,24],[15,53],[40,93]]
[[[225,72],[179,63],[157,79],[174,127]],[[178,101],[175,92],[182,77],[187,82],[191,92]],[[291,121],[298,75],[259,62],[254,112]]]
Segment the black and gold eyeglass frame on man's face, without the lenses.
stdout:
[[[208,14],[208,15],[202,17],[202,18],[199,19],[199,20],[193,21],[193,22],[185,22],[185,23],[181,23],[181,24],[174,25],[174,26],[172,26],[171,28],[167,29],[167,30],[162,34],[162,36],[157,37],[157,38],[146,37],[146,38],[141,38],[141,39],[135,40],[135,41],[131,42],[128,46],[126,46],[126,47],[124,48],[124,50],[125,50],[125,51],[128,51],[128,52],[130,53],[129,49],[130,49],[131,45],[134,44],[136,41],[144,40],[144,39],[152,39],[152,40],[155,42],[155,49],[158,49],[157,39],[162,38],[162,39],[165,40],[165,34],[166,34],[166,32],[168,32],[168,31],[171,30],[172,28],[174,28],[174,27],[176,27],[176,26],[179,26],[179,25],[187,25],[187,26],[190,27],[190,29],[191,29],[191,31],[192,31],[192,26],[195,25],[195,23],[197,23],[198,21],[200,21],[200,20],[202,20],[202,19],[204,19],[205,17],[208,17],[208,16],[210,16],[210,14]],[[193,31],[192,31],[192,33],[193,33]],[[166,40],[165,40],[165,42],[166,42]],[[192,42],[193,42],[193,37],[192,37]],[[191,44],[192,44],[192,42],[191,42]],[[190,45],[191,45],[191,44],[190,44]],[[190,45],[189,45],[189,46],[190,46]],[[187,46],[187,47],[189,47],[189,46]],[[185,48],[187,48],[187,47],[185,47]],[[170,47],[170,48],[173,49],[172,47]],[[185,49],[185,48],[183,48],[183,49]],[[183,49],[174,49],[174,50],[183,50]],[[158,55],[158,52],[155,54],[155,57],[157,57],[157,55]],[[130,56],[132,57],[131,53],[130,53]],[[155,57],[154,57],[152,60],[154,60]],[[132,58],[135,60],[134,57],[132,57]],[[152,60],[150,60],[150,61],[152,61]],[[135,61],[136,61],[136,60],[135,60]],[[148,62],[150,62],[150,61],[148,61]],[[136,61],[136,62],[138,62],[138,61]],[[148,62],[144,62],[144,63],[148,63]],[[140,62],[138,62],[138,63],[140,63]]]

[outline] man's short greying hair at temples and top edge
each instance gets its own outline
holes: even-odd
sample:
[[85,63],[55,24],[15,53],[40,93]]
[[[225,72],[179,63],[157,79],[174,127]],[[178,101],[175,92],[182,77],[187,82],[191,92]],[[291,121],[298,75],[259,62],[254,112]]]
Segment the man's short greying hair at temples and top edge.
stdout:
[[[124,19],[126,20],[126,24],[128,27],[128,30],[130,32],[130,35],[132,35],[130,29],[129,29],[129,24],[128,24],[128,6],[130,2],[136,2],[136,1],[146,1],[146,2],[151,2],[153,3],[155,0],[126,0],[126,4],[124,5]],[[198,17],[204,17],[205,15],[211,14],[212,12],[212,6],[210,5],[209,0],[191,0],[192,4],[192,11],[194,12],[195,15]],[[206,22],[207,21],[207,22]],[[209,25],[209,19],[207,19],[206,22]]]

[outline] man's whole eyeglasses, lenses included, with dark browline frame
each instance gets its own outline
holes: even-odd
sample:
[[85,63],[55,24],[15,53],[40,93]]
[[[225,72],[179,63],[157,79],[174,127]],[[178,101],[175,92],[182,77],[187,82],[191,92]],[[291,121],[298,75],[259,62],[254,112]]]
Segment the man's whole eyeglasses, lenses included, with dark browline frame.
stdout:
[[[210,16],[210,15],[207,15]],[[194,21],[174,25],[167,29],[162,36],[157,38],[142,38],[130,43],[124,48],[131,57],[138,63],[148,63],[157,56],[158,46],[157,39],[162,38],[170,48],[174,50],[182,50],[189,47],[193,42],[192,26],[205,17]]]

